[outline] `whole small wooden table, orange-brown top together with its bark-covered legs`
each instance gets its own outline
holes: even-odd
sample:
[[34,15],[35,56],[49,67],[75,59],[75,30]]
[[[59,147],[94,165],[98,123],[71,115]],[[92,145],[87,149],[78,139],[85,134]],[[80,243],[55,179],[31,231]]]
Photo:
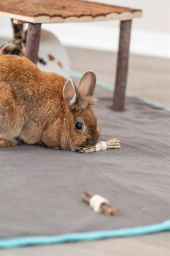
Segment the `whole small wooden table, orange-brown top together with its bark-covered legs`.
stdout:
[[[80,0],[1,0],[0,15],[13,23],[29,23],[25,57],[37,63],[42,23],[120,20],[113,110],[123,111],[128,72],[131,21],[142,10]],[[19,30],[21,30],[20,26]]]

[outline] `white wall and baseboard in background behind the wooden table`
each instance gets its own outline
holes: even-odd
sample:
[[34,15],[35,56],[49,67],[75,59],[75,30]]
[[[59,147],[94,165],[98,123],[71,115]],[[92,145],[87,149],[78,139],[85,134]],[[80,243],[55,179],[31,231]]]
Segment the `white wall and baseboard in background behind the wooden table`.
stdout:
[[[130,52],[169,57],[169,1],[93,1],[142,9],[143,18],[133,19],[132,22]],[[64,45],[117,51],[118,21],[43,24],[42,28],[54,33]],[[3,37],[12,37],[8,19],[0,20],[0,33]]]

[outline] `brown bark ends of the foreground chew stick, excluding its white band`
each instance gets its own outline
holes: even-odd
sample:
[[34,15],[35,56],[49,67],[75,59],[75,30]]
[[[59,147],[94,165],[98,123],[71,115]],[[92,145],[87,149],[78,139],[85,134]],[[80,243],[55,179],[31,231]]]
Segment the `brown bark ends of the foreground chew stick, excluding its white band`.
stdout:
[[[82,194],[82,200],[89,203],[90,198],[94,196],[94,194],[91,191],[83,191]],[[105,215],[114,215],[116,213],[116,208],[110,204],[103,203],[101,204],[101,212],[103,212]]]

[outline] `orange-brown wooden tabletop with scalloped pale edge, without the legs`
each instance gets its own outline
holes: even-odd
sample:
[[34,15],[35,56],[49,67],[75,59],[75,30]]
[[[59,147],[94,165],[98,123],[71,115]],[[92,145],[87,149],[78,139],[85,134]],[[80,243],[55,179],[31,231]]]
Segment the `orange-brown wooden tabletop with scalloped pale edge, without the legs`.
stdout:
[[0,15],[30,23],[131,20],[142,11],[79,0],[1,0]]

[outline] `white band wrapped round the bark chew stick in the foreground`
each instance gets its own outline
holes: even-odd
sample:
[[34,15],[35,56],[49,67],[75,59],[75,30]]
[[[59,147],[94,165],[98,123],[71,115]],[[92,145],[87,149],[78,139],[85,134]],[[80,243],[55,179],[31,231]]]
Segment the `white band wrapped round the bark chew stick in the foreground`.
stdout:
[[106,198],[101,197],[97,194],[92,196],[89,200],[90,207],[93,208],[93,211],[95,213],[101,212],[101,204],[103,203],[110,204],[110,202]]

